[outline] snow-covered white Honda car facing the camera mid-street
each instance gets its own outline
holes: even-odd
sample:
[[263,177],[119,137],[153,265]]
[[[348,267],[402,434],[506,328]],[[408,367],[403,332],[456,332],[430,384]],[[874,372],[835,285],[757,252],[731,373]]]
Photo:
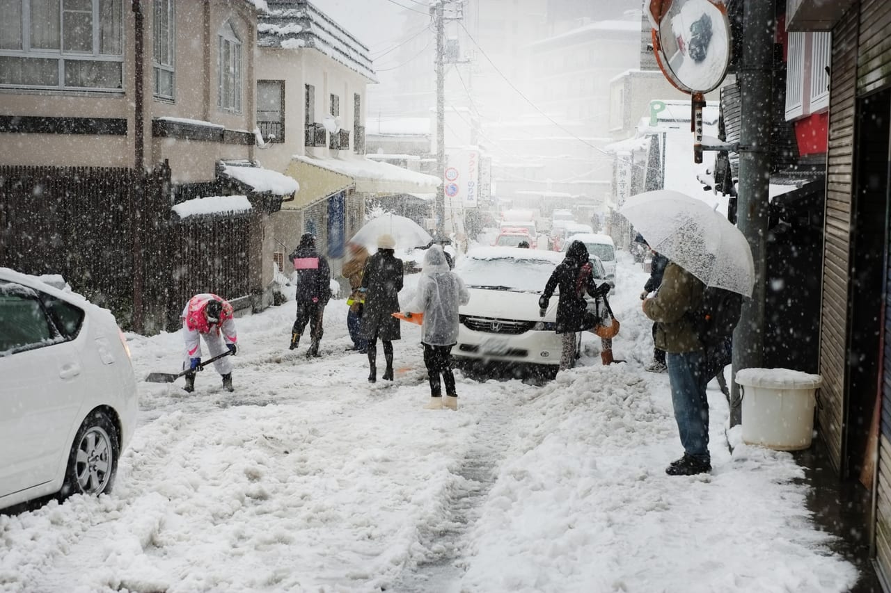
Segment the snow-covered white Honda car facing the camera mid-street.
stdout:
[[535,249],[470,250],[455,269],[470,302],[459,309],[454,359],[546,365],[556,374],[562,347],[554,331],[558,299],[551,299],[541,317],[538,297],[562,259],[560,253]]

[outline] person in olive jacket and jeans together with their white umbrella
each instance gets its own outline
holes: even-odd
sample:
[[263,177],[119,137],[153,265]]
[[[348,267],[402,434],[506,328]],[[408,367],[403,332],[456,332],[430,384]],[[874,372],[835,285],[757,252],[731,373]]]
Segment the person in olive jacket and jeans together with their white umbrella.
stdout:
[[666,351],[674,419],[683,457],[666,467],[668,475],[711,471],[708,452],[709,372],[704,346],[694,326],[706,287],[751,296],[755,264],[745,236],[705,202],[677,191],[648,191],[619,209],[668,257],[656,296],[643,301],[643,313],[657,321],[656,346]]

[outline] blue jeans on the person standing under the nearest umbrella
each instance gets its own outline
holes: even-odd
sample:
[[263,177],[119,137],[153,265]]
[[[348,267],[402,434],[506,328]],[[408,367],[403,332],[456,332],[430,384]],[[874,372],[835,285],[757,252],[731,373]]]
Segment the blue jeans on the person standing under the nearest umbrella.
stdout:
[[674,420],[688,456],[711,463],[708,454],[708,400],[701,352],[666,353]]

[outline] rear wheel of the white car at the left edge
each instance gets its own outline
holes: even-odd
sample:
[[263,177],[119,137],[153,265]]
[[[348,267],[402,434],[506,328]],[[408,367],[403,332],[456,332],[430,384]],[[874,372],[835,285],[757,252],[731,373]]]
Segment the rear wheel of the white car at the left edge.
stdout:
[[120,442],[118,429],[102,411],[86,417],[74,437],[65,469],[61,498],[72,494],[97,496],[110,492],[118,471]]

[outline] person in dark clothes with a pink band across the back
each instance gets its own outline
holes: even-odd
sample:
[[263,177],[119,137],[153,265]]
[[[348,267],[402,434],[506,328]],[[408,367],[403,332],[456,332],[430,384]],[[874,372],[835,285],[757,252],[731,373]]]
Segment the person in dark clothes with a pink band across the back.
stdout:
[[311,343],[307,358],[319,357],[319,344],[322,342],[325,305],[331,298],[331,270],[328,260],[319,255],[315,248],[315,236],[306,232],[300,237],[298,247],[289,256],[297,272],[297,319],[290,329],[290,349],[297,348],[300,335],[309,324]]

